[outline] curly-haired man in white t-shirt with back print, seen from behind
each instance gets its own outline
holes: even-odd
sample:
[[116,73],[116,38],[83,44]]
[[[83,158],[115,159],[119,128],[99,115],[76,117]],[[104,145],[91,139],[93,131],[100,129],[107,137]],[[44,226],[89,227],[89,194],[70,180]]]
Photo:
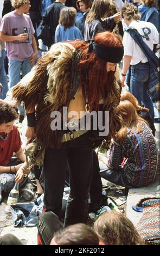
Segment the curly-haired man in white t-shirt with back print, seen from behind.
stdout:
[[[126,3],[121,9],[121,15],[129,28],[137,29],[146,45],[153,51],[154,45],[159,43],[159,34],[156,27],[146,21],[140,21],[140,14],[135,5]],[[124,86],[127,70],[131,69],[130,93],[139,102],[139,105],[149,109],[149,113],[154,120],[153,102],[148,94],[148,90],[158,84],[158,71],[152,68],[150,60],[145,56],[131,35],[125,31],[123,37],[124,60],[122,69],[121,84]],[[131,66],[130,66],[131,65]]]

